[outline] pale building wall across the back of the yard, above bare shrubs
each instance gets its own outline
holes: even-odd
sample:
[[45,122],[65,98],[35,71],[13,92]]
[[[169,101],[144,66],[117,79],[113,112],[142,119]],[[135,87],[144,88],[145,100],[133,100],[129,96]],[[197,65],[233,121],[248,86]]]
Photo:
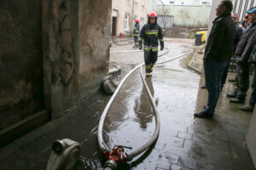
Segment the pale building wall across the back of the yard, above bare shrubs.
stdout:
[[151,0],[148,10],[173,17],[173,26],[207,26],[212,0]]

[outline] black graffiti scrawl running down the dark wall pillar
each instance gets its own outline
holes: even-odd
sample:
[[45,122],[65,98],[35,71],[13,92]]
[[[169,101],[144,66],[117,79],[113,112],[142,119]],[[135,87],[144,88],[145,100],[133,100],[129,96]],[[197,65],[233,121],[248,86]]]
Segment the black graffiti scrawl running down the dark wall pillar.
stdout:
[[74,74],[73,37],[70,14],[67,0],[60,0],[58,3],[58,56],[55,65],[55,85],[68,92],[71,88]]

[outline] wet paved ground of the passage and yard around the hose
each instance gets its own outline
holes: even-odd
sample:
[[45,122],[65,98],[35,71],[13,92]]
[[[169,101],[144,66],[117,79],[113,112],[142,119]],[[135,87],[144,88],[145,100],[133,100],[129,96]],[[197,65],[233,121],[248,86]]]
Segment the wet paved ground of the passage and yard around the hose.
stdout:
[[[172,59],[193,49],[193,40],[166,41],[169,53],[159,60]],[[111,51],[137,50],[130,46],[113,45]],[[167,49],[164,52],[168,51]],[[163,52],[160,52],[163,53]],[[148,86],[160,113],[160,135],[157,142],[142,156],[119,169],[253,169],[245,144],[251,114],[230,104],[225,93],[234,87],[228,82],[212,120],[194,118],[207,102],[207,91],[199,88],[203,78],[184,65],[188,56],[162,65],[155,65]],[[143,62],[142,52],[111,54],[110,63],[121,65],[121,77]],[[55,139],[69,138],[82,144],[82,156],[76,170],[102,169],[97,146],[97,123],[110,96],[98,91],[84,99],[66,116],[49,122],[32,133],[0,149],[1,170],[43,170]],[[121,144],[133,150],[144,144],[154,133],[154,110],[150,105],[139,71],[131,74],[114,100],[104,122],[108,146]],[[129,150],[127,150],[129,151]]]

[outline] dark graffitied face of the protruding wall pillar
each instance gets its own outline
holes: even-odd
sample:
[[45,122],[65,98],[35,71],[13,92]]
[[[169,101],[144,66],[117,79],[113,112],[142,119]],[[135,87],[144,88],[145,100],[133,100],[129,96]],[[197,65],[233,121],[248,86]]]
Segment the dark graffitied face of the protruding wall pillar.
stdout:
[[42,1],[45,105],[52,117],[79,96],[79,1]]

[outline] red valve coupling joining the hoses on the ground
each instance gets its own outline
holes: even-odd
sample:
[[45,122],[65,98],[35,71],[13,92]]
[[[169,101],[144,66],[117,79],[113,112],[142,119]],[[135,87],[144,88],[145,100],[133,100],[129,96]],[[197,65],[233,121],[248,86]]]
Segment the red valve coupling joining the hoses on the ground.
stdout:
[[124,147],[121,145],[113,146],[111,152],[109,152],[108,150],[103,151],[103,155],[106,160],[115,161],[117,164],[125,163],[126,161],[128,161],[128,156],[125,154]]

